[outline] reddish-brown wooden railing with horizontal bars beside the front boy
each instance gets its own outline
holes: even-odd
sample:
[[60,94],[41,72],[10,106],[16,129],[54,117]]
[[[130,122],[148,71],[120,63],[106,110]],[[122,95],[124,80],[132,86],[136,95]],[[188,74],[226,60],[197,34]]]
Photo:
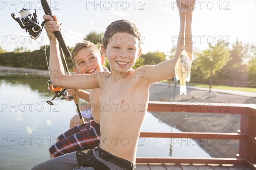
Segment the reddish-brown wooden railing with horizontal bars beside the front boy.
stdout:
[[236,158],[137,158],[137,163],[243,164],[256,169],[256,105],[150,101],[148,111],[241,114],[240,130],[237,133],[140,133],[140,137],[155,138],[236,139],[239,140],[239,153]]

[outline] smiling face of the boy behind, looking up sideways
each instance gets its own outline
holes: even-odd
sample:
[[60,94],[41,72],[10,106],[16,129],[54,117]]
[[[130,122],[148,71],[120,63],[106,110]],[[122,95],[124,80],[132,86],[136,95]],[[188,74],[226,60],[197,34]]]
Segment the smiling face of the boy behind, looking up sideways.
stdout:
[[76,74],[93,74],[102,71],[105,57],[94,48],[82,48],[74,57]]

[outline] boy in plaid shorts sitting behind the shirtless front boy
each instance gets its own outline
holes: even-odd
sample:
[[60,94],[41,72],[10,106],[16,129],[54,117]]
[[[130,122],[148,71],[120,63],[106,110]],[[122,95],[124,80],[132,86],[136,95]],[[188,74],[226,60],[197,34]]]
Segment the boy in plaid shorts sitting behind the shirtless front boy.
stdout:
[[[76,44],[72,51],[72,62],[75,66],[73,70],[76,74],[94,74],[103,70],[105,57],[100,54],[99,49],[90,41],[80,42]],[[50,157],[64,155],[66,153],[77,150],[87,150],[99,145],[100,129],[99,129],[99,89],[91,89],[90,93],[84,90],[69,90],[70,95],[77,95],[89,102],[85,105],[85,111],[91,112],[93,120],[86,122],[85,125],[77,125],[72,127],[72,119],[70,122],[70,130],[58,136],[58,140],[49,148]],[[90,95],[89,95],[90,94]],[[93,105],[90,105],[93,103]],[[91,106],[96,106],[91,108]],[[83,109],[83,110],[84,110]],[[71,128],[72,127],[72,128]]]

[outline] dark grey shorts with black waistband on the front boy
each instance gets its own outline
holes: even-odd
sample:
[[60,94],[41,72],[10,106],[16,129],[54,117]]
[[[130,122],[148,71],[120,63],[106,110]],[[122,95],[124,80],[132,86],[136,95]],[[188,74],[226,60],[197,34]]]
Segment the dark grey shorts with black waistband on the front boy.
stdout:
[[32,170],[136,170],[136,167],[128,160],[96,147],[49,159]]

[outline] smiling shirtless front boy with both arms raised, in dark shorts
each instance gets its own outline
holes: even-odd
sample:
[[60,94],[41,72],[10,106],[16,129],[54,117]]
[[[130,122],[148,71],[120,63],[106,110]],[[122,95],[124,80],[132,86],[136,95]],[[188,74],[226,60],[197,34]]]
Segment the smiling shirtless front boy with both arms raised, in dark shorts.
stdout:
[[[195,1],[192,0],[192,2]],[[48,164],[49,169],[136,169],[137,142],[147,111],[149,86],[154,82],[175,76],[175,64],[183,50],[184,39],[181,37],[185,37],[185,18],[185,34],[188,37],[191,36],[193,5],[195,3],[181,4],[180,1],[178,2],[180,36],[175,58],[157,65],[132,69],[141,53],[140,32],[133,23],[127,20],[114,21],[105,31],[102,54],[108,57],[111,72],[65,75],[61,67],[58,45],[54,44],[55,39],[51,40],[50,70],[59,71],[58,77],[51,77],[56,86],[73,89],[101,89],[99,98],[101,140],[99,147],[95,149],[69,153],[62,158],[59,156],[59,159],[42,163],[37,167],[38,169],[44,164]],[[48,37],[53,37],[53,31],[60,30],[59,25],[55,21],[47,23],[54,25],[46,29]],[[189,41],[186,42],[186,51],[192,54],[192,44]]]

